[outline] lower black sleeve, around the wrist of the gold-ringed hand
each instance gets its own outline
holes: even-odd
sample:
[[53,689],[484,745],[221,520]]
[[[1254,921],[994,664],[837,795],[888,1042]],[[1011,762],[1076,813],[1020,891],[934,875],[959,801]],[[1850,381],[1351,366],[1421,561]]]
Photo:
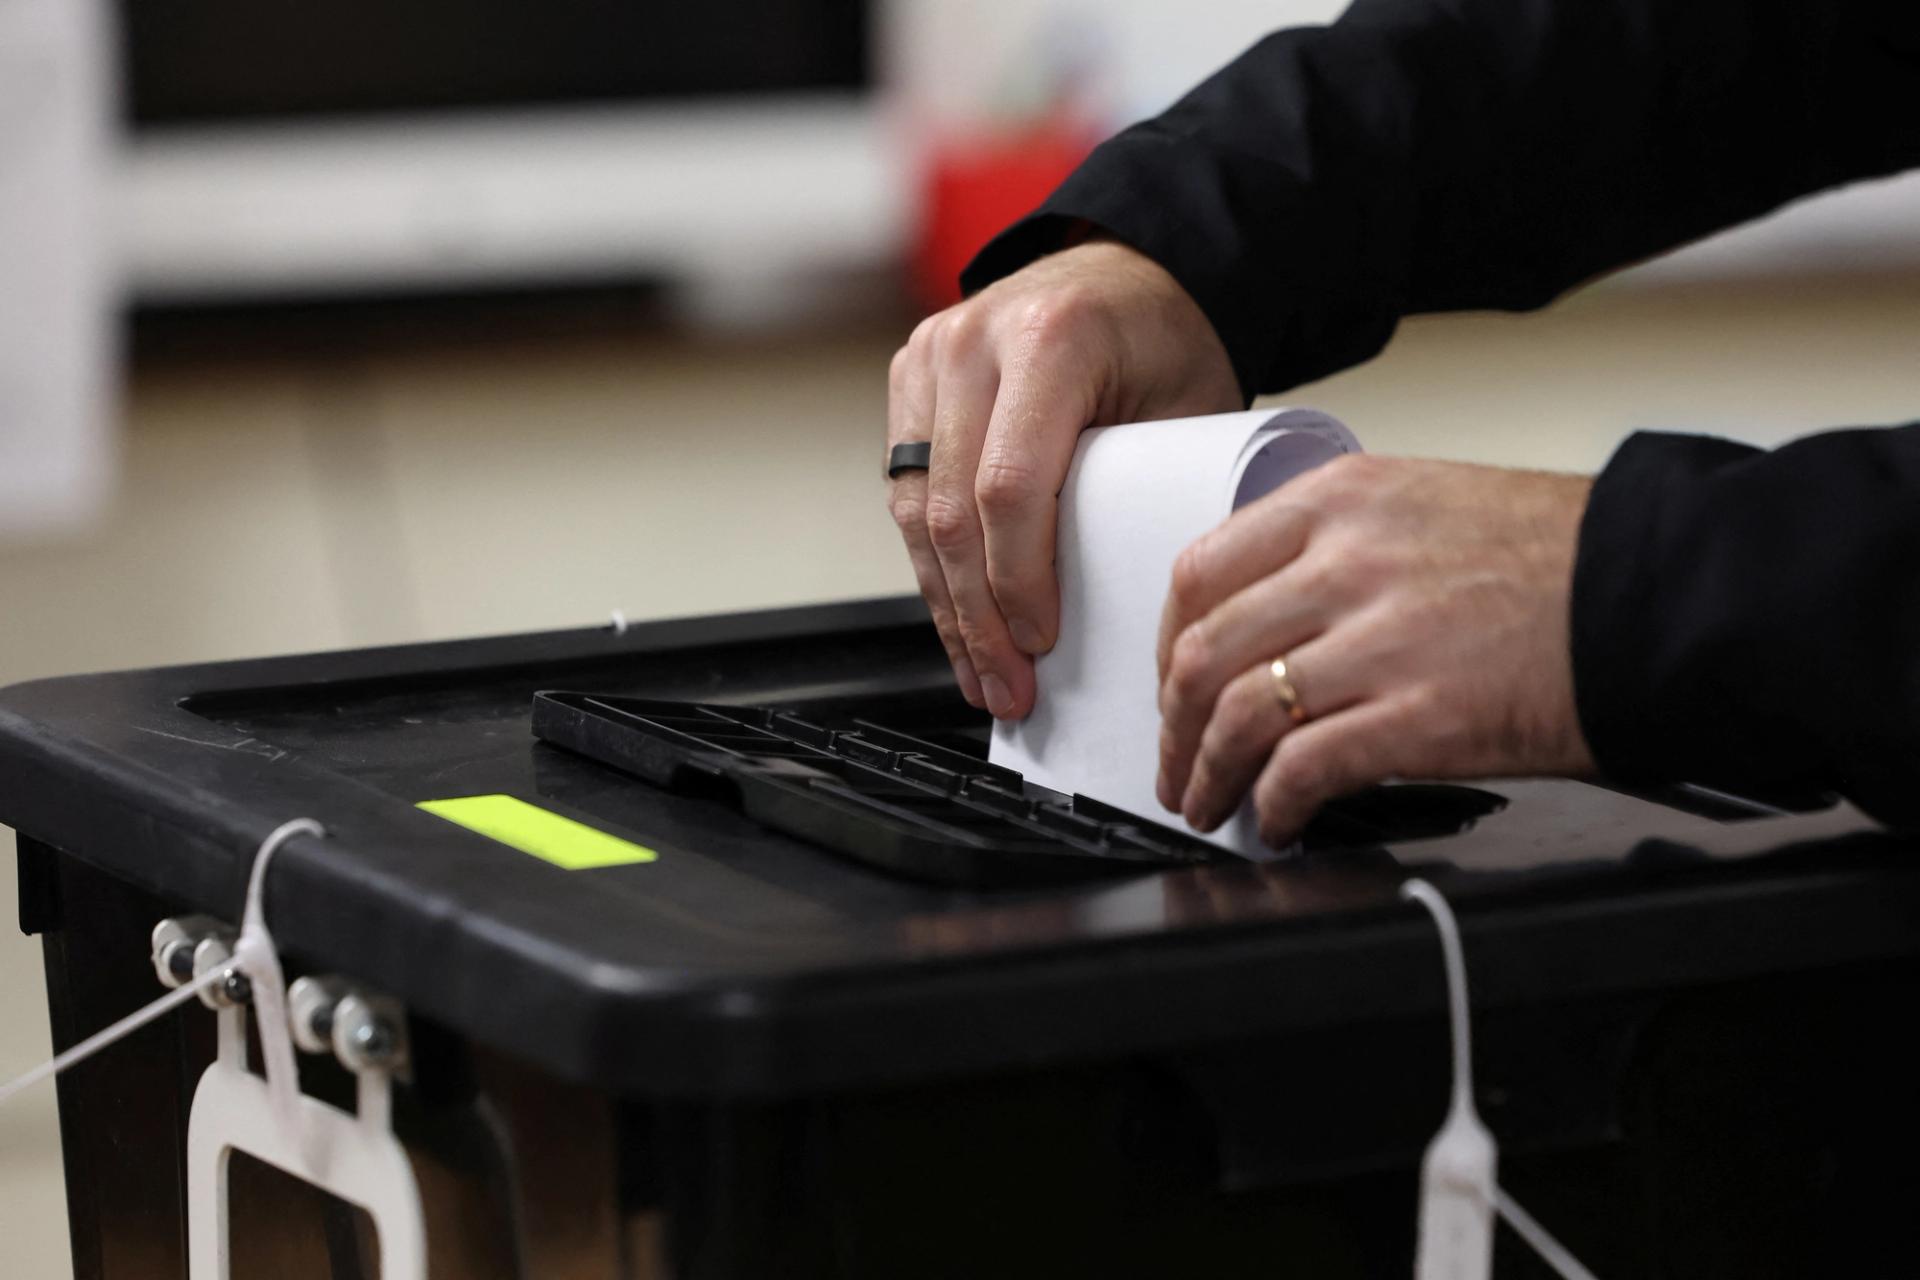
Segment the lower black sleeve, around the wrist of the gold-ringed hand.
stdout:
[[1770,453],[1632,436],[1580,528],[1572,668],[1613,777],[1920,825],[1920,424]]

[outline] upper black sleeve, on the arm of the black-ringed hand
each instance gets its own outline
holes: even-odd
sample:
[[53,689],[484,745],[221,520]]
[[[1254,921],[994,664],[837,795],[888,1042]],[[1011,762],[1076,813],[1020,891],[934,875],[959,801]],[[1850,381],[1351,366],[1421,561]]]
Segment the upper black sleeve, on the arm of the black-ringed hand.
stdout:
[[1524,309],[1847,178],[1920,163],[1901,0],[1357,0],[1102,144],[979,290],[1092,223],[1194,296],[1248,395],[1402,315]]

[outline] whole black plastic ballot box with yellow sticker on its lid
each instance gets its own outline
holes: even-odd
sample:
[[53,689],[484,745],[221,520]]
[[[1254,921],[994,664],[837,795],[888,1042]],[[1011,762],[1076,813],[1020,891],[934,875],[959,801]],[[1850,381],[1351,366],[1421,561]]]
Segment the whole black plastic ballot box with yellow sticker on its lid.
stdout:
[[[1405,1276],[1450,1088],[1409,875],[1501,1182],[1597,1274],[1914,1257],[1920,865],[1845,802],[1409,781],[1256,864],[987,729],[872,601],[19,685],[0,819],[56,1046],[324,829],[261,890],[298,1096],[403,1151],[434,1276]],[[188,1274],[192,1136],[244,1128],[205,1080],[284,1031],[207,996],[60,1079],[83,1280]],[[376,1274],[392,1205],[221,1159],[230,1274]]]

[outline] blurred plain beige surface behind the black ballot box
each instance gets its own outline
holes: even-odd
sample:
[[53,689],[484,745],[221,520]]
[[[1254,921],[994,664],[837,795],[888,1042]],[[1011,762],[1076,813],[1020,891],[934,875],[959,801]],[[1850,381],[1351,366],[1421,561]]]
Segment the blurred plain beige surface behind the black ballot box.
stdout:
[[[1288,399],[1379,451],[1594,468],[1640,426],[1920,416],[1916,338],[1912,278],[1611,288],[1411,322]],[[0,545],[0,683],[904,591],[876,464],[889,347],[611,326],[146,367],[111,518]],[[46,1052],[38,983],[0,921],[0,1079]],[[0,1109],[0,1268],[33,1280],[67,1274],[50,1102]]]

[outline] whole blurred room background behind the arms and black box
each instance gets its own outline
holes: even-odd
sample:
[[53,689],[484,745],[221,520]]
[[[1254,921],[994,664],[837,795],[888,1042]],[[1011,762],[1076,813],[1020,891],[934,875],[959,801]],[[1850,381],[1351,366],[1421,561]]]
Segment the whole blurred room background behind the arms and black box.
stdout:
[[[910,591],[885,367],[1087,146],[1334,0],[6,0],[0,683]],[[1576,138],[1569,146],[1578,146]],[[1920,184],[1288,399],[1596,468],[1920,416]],[[48,1052],[0,829],[0,1079]],[[52,1090],[8,1274],[65,1276]]]

